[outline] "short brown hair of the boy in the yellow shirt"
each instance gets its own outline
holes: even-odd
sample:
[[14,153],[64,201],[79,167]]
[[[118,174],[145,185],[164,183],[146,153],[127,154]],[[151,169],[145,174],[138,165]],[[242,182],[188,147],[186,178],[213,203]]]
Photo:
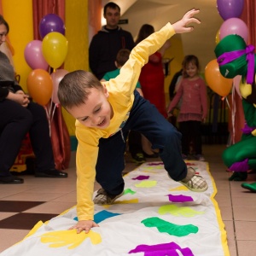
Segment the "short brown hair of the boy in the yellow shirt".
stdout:
[[101,82],[93,73],[76,70],[67,73],[59,84],[58,98],[63,108],[79,107],[90,95],[90,88],[102,90]]

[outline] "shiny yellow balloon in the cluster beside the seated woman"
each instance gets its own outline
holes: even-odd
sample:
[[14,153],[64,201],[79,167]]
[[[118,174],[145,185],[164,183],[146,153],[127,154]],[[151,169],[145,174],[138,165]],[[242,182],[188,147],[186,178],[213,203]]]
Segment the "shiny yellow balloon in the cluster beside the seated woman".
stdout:
[[60,32],[49,32],[43,39],[42,51],[50,67],[61,67],[67,57],[67,38]]

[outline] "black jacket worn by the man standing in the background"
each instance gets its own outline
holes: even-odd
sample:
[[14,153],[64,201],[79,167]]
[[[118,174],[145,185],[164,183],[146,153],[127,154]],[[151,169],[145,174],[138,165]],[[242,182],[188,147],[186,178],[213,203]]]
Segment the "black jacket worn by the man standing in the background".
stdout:
[[108,30],[102,26],[102,30],[92,38],[89,47],[90,70],[97,79],[102,79],[103,75],[116,69],[114,61],[119,49],[132,49],[134,41],[130,32],[118,27]]

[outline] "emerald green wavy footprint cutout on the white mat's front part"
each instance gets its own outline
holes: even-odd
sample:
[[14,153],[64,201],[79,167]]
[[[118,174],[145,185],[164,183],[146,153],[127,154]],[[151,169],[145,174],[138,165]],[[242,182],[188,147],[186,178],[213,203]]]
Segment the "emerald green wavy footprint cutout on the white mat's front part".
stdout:
[[142,223],[148,228],[155,227],[160,233],[167,233],[171,236],[188,236],[198,232],[198,227],[193,224],[177,225],[157,217],[145,218]]

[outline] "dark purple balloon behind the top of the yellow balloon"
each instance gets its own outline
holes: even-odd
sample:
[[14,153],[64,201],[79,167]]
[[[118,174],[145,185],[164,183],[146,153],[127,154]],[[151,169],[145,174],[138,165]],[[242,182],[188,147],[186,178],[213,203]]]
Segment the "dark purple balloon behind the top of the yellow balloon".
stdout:
[[65,35],[65,25],[58,15],[45,15],[39,24],[40,37],[43,39],[49,32],[59,32]]

